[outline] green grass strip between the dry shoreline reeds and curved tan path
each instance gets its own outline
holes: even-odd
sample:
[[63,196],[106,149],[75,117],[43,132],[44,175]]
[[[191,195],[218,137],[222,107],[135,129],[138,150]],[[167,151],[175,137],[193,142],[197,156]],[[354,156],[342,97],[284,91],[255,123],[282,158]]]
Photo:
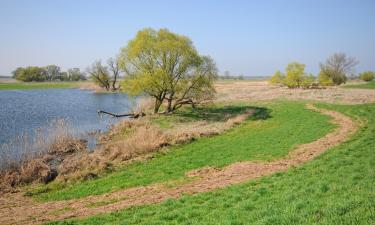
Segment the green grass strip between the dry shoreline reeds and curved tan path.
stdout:
[[267,107],[223,135],[171,148],[167,154],[155,154],[150,161],[133,163],[96,180],[66,187],[52,182],[30,194],[42,201],[79,198],[183,179],[187,171],[204,166],[223,167],[237,161],[280,158],[294,146],[316,140],[333,128],[328,116],[307,110],[302,103],[282,102]]

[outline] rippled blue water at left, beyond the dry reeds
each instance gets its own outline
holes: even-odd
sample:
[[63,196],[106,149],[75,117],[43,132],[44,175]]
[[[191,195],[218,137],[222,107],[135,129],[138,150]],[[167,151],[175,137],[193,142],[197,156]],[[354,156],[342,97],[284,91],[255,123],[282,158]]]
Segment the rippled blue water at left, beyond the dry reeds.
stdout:
[[106,131],[119,121],[100,117],[97,110],[124,113],[131,102],[125,94],[78,89],[0,91],[0,146],[59,119],[70,124],[76,136],[90,140],[87,133]]

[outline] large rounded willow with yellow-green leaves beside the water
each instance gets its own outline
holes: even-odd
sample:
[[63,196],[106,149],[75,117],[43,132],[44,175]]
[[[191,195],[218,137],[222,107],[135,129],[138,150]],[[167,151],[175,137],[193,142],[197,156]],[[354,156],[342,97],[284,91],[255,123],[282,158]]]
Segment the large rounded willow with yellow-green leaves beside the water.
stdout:
[[172,112],[215,95],[217,69],[213,60],[200,56],[188,37],[167,29],[139,31],[121,49],[120,67],[126,74],[123,91],[154,98],[155,113],[164,102],[166,112]]

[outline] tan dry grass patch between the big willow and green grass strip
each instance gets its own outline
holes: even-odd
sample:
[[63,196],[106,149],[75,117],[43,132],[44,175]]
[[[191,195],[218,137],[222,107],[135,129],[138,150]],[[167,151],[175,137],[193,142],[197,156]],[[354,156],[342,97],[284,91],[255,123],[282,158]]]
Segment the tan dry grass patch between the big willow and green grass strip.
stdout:
[[243,122],[254,111],[229,117],[224,122],[190,122],[171,129],[161,129],[148,118],[122,121],[101,138],[101,146],[94,152],[71,155],[59,166],[58,180],[71,182],[95,178],[114,167],[144,159],[164,146],[190,142],[203,136],[222,133]]

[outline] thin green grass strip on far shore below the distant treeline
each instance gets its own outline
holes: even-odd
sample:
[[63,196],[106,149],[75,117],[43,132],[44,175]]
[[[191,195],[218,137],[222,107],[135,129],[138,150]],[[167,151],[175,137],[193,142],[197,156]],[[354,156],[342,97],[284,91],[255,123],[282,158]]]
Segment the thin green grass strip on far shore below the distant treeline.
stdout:
[[78,88],[77,82],[22,82],[22,83],[0,83],[0,90],[29,90],[29,89],[51,89],[51,88]]

